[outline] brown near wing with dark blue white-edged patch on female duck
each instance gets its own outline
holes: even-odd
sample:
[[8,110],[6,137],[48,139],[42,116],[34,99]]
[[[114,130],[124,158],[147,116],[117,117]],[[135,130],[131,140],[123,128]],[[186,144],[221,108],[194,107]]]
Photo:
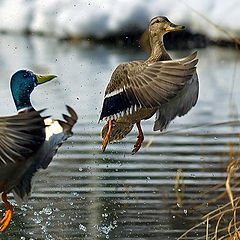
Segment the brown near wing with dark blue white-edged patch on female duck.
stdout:
[[196,72],[197,52],[178,60],[120,64],[106,88],[100,120],[138,107],[159,107],[175,97]]

